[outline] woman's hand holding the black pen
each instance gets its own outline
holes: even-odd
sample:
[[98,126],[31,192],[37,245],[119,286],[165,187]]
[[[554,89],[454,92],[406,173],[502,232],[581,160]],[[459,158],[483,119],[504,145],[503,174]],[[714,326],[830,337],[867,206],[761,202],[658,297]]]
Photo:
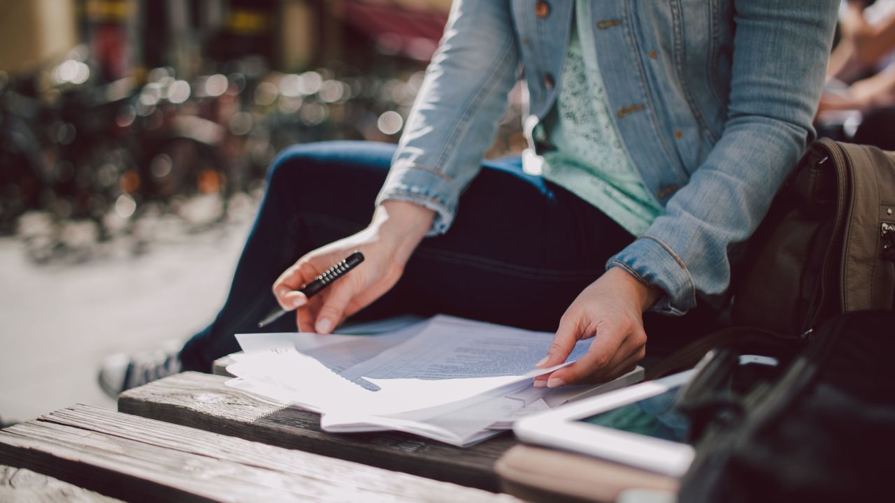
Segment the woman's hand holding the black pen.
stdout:
[[[304,255],[286,269],[274,282],[277,303],[286,310],[297,308],[299,330],[332,332],[346,317],[395,286],[434,217],[434,211],[410,202],[382,202],[370,226]],[[354,251],[362,252],[364,260],[345,277],[310,300],[297,291]]]

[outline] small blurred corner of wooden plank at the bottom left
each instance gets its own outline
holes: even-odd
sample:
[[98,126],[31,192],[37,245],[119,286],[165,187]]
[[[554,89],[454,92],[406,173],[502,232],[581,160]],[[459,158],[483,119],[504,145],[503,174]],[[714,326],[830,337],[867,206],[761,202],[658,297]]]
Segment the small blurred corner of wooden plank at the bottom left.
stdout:
[[0,465],[0,501],[18,503],[50,503],[79,501],[81,503],[120,503],[92,490],[81,489],[24,468]]

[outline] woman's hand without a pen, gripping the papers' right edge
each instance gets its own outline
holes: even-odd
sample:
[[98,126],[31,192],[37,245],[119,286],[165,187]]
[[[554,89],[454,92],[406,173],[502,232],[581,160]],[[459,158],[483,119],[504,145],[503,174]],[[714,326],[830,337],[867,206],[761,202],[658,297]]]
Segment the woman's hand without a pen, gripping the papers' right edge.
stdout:
[[565,362],[576,342],[595,337],[587,354],[567,367],[535,378],[534,386],[595,383],[633,370],[646,354],[644,311],[660,294],[660,289],[644,285],[624,269],[606,271],[568,306],[547,357],[535,367]]

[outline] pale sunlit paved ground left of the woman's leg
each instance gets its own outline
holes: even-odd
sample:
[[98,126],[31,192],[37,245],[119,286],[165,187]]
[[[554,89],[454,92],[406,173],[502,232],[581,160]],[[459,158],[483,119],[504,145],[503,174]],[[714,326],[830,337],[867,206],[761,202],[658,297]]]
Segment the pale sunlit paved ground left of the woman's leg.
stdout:
[[248,222],[81,264],[35,265],[21,240],[0,239],[0,417],[28,420],[74,403],[114,408],[96,384],[98,362],[208,323]]

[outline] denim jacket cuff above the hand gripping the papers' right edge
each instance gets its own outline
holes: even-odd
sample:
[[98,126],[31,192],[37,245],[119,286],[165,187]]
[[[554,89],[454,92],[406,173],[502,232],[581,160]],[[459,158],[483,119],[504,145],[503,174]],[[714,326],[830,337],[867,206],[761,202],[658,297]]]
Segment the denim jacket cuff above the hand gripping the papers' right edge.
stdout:
[[620,267],[645,285],[658,286],[665,295],[650,311],[683,315],[696,307],[696,289],[684,261],[658,239],[644,235],[606,262]]

